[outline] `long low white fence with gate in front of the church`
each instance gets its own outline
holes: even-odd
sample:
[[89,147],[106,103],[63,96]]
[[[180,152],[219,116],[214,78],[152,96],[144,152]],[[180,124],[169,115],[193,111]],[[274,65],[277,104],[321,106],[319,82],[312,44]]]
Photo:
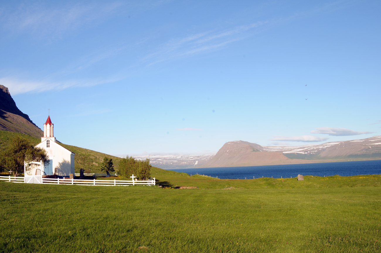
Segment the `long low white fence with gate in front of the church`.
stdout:
[[[37,178],[38,177],[38,178]],[[41,181],[39,180],[41,178]],[[85,180],[85,179],[60,179],[60,178],[43,178],[38,176],[0,176],[0,180],[8,182],[32,183],[32,184],[77,184],[77,185],[99,185],[99,186],[128,186],[135,184],[155,185],[156,180],[138,181],[138,180]],[[40,183],[41,182],[41,183]]]

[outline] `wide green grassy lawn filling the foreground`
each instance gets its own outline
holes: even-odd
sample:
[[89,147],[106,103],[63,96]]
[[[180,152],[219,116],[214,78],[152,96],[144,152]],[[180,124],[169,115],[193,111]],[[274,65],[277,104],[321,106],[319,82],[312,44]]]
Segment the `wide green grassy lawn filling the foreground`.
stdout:
[[168,186],[199,189],[0,182],[0,251],[381,250],[380,175],[282,181],[154,173]]

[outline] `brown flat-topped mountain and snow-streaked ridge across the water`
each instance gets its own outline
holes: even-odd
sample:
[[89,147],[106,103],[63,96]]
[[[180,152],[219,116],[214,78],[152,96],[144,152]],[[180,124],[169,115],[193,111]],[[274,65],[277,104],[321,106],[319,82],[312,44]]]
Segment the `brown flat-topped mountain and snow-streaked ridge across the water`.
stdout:
[[229,141],[202,168],[381,159],[381,136],[304,146],[260,146]]

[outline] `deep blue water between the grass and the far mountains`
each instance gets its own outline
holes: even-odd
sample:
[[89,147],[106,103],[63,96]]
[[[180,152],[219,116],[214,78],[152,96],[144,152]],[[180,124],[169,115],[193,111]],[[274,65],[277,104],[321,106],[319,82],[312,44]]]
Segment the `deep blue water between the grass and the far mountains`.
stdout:
[[381,174],[381,160],[171,170],[185,172],[189,175],[200,174],[226,179],[252,179],[253,177],[294,178],[298,176],[298,174],[313,176],[354,176]]

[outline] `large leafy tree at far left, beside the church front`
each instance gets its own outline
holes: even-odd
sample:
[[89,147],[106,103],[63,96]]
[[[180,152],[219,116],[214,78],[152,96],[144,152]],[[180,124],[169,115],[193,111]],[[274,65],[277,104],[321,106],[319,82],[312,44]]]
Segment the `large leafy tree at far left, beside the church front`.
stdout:
[[44,164],[48,160],[45,149],[34,147],[27,139],[15,136],[0,154],[0,168],[12,171],[14,176],[19,176],[24,173],[24,161],[26,163],[25,170],[30,171],[35,165],[28,163],[39,162],[40,160]]

